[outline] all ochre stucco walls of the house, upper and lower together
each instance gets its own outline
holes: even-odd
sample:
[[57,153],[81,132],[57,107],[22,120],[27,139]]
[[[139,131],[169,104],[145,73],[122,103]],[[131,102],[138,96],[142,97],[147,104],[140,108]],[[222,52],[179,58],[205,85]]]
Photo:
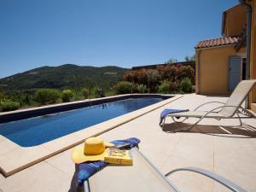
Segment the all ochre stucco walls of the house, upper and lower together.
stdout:
[[[250,55],[250,79],[256,79],[256,0],[247,1],[253,7],[252,37]],[[223,28],[224,36],[239,35],[247,23],[245,7],[237,4],[224,11]],[[238,52],[232,46],[195,49],[195,70],[197,94],[228,95],[229,93],[229,60],[231,55],[246,55],[246,48]],[[199,69],[200,61],[200,69]],[[200,77],[199,77],[200,76]],[[200,81],[199,81],[200,79]],[[253,88],[249,98],[249,108],[256,113],[256,87]]]

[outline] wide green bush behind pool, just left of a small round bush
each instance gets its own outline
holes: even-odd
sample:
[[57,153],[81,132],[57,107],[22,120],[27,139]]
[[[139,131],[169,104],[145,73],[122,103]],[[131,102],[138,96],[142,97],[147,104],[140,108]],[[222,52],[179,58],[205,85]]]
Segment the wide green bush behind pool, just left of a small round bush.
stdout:
[[36,102],[41,105],[55,103],[60,98],[60,92],[54,89],[40,89],[36,92]]

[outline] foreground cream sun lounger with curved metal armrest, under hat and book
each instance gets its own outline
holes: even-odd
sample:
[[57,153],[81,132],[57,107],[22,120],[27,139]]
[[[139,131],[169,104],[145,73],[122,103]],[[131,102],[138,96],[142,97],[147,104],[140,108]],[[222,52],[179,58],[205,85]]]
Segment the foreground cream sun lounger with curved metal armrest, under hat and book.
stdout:
[[230,180],[213,172],[195,167],[172,170],[163,175],[138,148],[132,148],[133,166],[107,166],[101,172],[84,182],[84,192],[179,192],[180,190],[167,178],[175,172],[195,172],[212,178],[235,192],[246,192]]

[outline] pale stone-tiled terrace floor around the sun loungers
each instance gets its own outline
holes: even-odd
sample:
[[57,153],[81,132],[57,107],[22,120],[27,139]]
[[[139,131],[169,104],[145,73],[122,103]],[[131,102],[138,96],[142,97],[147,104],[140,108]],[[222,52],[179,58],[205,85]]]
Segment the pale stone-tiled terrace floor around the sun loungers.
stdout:
[[[166,120],[165,130],[158,125],[160,111],[164,108],[193,109],[204,102],[225,102],[226,99],[185,95],[124,125],[119,125],[103,133],[101,137],[108,141],[126,137],[140,138],[140,150],[163,173],[179,167],[196,166],[229,178],[247,191],[256,191],[255,130],[236,127],[239,125],[237,119],[206,119],[189,132],[177,133],[172,132],[176,126],[172,119]],[[209,104],[202,109],[210,109],[213,106],[215,105]],[[245,122],[256,125],[255,121],[249,119]],[[190,122],[195,120],[192,119]],[[71,151],[72,149],[68,149],[56,154],[12,176],[0,175],[0,189],[3,192],[75,191]],[[22,155],[19,154],[16,158]],[[169,178],[181,191],[229,191],[211,179],[195,173],[177,172]]]

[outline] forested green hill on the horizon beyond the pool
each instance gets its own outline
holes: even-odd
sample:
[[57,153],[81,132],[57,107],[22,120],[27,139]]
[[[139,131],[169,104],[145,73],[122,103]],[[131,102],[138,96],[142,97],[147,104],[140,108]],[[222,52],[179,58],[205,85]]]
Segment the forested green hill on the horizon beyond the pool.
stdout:
[[66,64],[59,67],[38,67],[0,79],[1,90],[38,88],[72,88],[113,86],[127,69],[115,66],[82,67]]

